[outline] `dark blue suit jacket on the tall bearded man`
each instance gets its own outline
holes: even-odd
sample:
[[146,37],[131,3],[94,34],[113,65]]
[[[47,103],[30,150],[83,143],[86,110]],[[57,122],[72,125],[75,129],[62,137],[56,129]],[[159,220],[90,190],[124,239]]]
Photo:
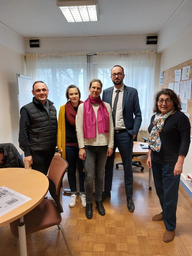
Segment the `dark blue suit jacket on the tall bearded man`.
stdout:
[[[112,105],[112,94],[114,86],[107,88],[103,91],[102,100]],[[141,126],[142,117],[139,106],[138,92],[135,88],[124,85],[123,90],[123,121],[125,128],[129,134],[138,134]],[[133,117],[135,115],[135,120]]]

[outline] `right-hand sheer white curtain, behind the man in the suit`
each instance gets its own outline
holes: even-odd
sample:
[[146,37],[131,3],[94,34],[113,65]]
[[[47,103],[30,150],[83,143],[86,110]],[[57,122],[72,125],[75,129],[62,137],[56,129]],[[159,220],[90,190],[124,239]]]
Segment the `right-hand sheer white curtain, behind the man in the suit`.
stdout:
[[114,65],[124,68],[124,84],[137,89],[143,120],[140,129],[144,131],[152,116],[155,58],[154,51],[97,53],[98,78],[103,89],[113,86],[110,76]]

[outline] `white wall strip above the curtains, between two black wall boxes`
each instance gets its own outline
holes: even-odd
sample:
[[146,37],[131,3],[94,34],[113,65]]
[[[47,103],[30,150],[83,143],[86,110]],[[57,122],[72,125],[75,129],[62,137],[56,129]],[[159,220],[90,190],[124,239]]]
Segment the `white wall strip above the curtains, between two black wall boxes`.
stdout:
[[146,44],[146,36],[98,36],[73,38],[40,38],[40,48],[30,48],[27,53],[99,52],[156,50],[156,45]]

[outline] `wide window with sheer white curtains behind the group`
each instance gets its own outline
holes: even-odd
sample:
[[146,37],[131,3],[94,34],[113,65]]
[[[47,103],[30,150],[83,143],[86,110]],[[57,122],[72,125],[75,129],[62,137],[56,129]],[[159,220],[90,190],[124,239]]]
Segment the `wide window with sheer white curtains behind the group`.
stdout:
[[49,99],[59,113],[67,101],[65,92],[70,84],[81,91],[81,99],[88,97],[89,81],[99,78],[103,90],[113,86],[111,69],[114,65],[124,68],[124,84],[137,89],[142,113],[142,130],[147,130],[152,116],[155,52],[104,52],[93,55],[27,54],[28,75],[33,81],[43,80],[49,88]]

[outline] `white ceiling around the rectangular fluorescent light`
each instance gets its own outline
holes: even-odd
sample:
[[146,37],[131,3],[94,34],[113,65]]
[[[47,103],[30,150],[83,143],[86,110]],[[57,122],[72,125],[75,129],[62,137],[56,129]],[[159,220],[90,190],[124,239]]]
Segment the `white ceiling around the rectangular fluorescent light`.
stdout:
[[99,21],[67,23],[57,0],[0,0],[0,22],[24,38],[156,35],[186,0],[98,0]]

